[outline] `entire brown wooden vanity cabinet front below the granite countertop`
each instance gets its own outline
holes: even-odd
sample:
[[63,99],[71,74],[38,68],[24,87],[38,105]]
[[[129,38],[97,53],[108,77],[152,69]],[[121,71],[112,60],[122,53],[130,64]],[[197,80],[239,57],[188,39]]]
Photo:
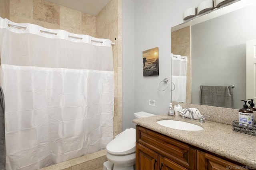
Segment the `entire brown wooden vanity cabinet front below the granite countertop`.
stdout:
[[225,158],[136,125],[136,170],[226,170],[239,168],[241,166]]

